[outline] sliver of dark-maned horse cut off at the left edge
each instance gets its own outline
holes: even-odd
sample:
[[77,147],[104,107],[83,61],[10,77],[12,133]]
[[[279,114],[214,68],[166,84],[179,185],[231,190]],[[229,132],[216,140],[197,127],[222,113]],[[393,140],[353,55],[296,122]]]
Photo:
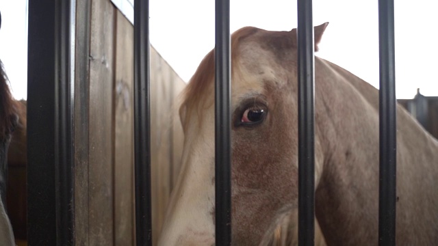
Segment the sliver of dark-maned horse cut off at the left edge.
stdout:
[[5,210],[8,147],[18,122],[15,101],[12,99],[3,64],[0,61],[0,245],[15,245],[14,234]]

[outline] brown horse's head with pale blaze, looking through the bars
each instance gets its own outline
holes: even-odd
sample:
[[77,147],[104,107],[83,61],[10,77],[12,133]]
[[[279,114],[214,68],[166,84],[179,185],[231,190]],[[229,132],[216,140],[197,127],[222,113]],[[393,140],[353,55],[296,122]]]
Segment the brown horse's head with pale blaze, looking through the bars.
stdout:
[[[315,50],[328,23],[315,27]],[[244,27],[231,36],[232,240],[267,243],[298,204],[297,35]],[[180,108],[181,174],[159,245],[214,244],[214,51]],[[322,159],[316,139],[315,178]],[[317,181],[318,182],[318,181]]]

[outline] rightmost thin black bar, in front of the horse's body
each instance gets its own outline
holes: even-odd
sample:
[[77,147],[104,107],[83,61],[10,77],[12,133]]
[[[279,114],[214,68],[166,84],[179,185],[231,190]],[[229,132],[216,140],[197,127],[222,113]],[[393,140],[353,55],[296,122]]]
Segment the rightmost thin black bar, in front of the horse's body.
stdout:
[[396,245],[396,77],[394,0],[378,1],[380,174],[378,243]]

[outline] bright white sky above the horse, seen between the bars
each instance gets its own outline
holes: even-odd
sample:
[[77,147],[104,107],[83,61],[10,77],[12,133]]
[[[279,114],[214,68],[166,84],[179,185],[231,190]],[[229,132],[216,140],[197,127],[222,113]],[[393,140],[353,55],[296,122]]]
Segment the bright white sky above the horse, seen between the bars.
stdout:
[[[108,0],[110,1],[110,0]],[[417,88],[438,96],[438,1],[396,3],[396,94],[413,98]],[[214,47],[214,1],[151,0],[151,44],[184,80]],[[313,24],[330,23],[316,55],[378,87],[377,1],[314,0]],[[1,1],[0,59],[16,98],[26,98],[25,0]],[[232,0],[231,31],[247,25],[285,31],[296,27],[296,1]]]

